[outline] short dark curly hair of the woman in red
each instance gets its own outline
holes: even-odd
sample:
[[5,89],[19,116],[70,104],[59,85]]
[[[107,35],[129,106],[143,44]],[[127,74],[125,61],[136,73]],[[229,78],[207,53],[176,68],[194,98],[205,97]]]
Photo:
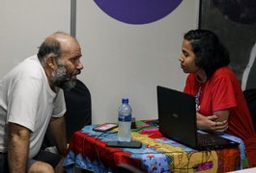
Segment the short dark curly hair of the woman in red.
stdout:
[[208,78],[216,69],[229,64],[229,52],[213,32],[191,30],[184,39],[191,43],[195,64],[205,70]]

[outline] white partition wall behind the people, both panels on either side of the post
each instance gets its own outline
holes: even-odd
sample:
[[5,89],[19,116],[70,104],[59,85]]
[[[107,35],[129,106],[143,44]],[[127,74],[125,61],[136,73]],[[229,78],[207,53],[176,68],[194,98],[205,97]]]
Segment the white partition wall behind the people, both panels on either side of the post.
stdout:
[[[78,78],[91,91],[93,123],[116,122],[123,96],[137,119],[156,118],[156,86],[182,90],[185,85],[178,58],[184,33],[197,28],[199,1],[183,0],[165,17],[142,25],[110,17],[96,1],[76,1],[76,37],[84,64]],[[0,77],[36,54],[44,37],[70,33],[70,16],[70,0],[2,0]]]

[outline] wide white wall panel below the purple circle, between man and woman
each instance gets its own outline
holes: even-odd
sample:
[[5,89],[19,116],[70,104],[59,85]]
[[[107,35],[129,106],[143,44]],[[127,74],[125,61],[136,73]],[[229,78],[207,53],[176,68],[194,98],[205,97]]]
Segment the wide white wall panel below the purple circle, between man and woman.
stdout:
[[116,122],[121,98],[137,119],[156,118],[156,86],[182,90],[178,58],[185,32],[197,28],[199,1],[184,0],[156,22],[131,25],[102,12],[92,0],[77,0],[76,37],[84,70],[79,79],[92,94],[93,123]]

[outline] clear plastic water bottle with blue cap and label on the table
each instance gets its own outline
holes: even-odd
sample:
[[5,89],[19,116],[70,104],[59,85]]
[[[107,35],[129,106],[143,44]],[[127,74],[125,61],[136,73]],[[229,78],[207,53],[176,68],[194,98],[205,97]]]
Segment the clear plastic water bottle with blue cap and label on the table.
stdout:
[[131,132],[131,107],[128,104],[128,98],[122,99],[122,105],[118,108],[118,140],[130,141]]

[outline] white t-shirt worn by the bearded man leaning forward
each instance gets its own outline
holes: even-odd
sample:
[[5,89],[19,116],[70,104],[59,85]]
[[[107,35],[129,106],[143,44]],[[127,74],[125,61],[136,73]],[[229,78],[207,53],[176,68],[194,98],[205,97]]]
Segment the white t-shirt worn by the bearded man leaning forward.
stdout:
[[0,79],[0,152],[7,152],[7,124],[13,122],[28,128],[29,158],[39,152],[51,116],[66,111],[64,93],[53,92],[38,57],[20,62]]

